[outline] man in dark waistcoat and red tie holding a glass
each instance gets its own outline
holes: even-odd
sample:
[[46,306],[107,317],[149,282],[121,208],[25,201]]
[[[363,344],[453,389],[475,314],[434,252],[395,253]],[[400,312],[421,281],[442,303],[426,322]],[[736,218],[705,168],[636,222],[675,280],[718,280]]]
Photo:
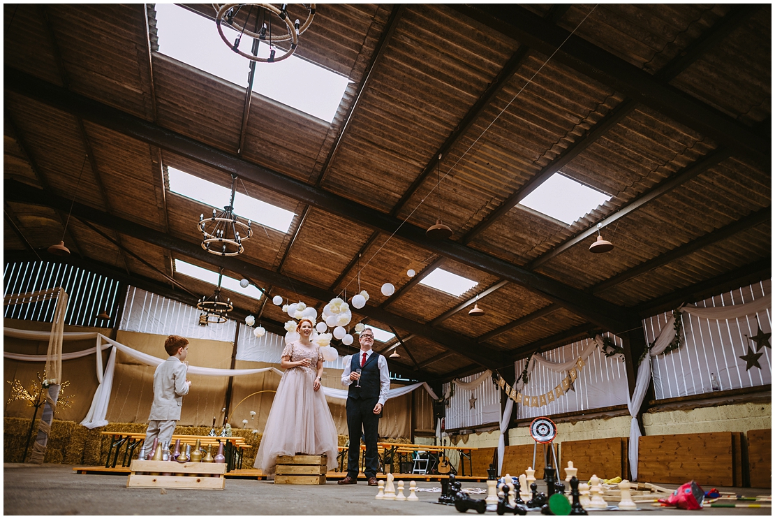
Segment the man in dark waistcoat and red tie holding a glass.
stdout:
[[[382,406],[390,389],[390,372],[384,356],[371,350],[374,331],[366,328],[360,332],[360,351],[344,361],[342,385],[347,391],[347,428],[350,431],[350,453],[347,457],[347,477],[339,485],[358,483],[360,458],[360,431],[366,438],[366,468],[363,469],[369,486],[377,486],[377,429]],[[360,369],[360,375],[356,372]],[[360,386],[360,387],[358,387]]]

